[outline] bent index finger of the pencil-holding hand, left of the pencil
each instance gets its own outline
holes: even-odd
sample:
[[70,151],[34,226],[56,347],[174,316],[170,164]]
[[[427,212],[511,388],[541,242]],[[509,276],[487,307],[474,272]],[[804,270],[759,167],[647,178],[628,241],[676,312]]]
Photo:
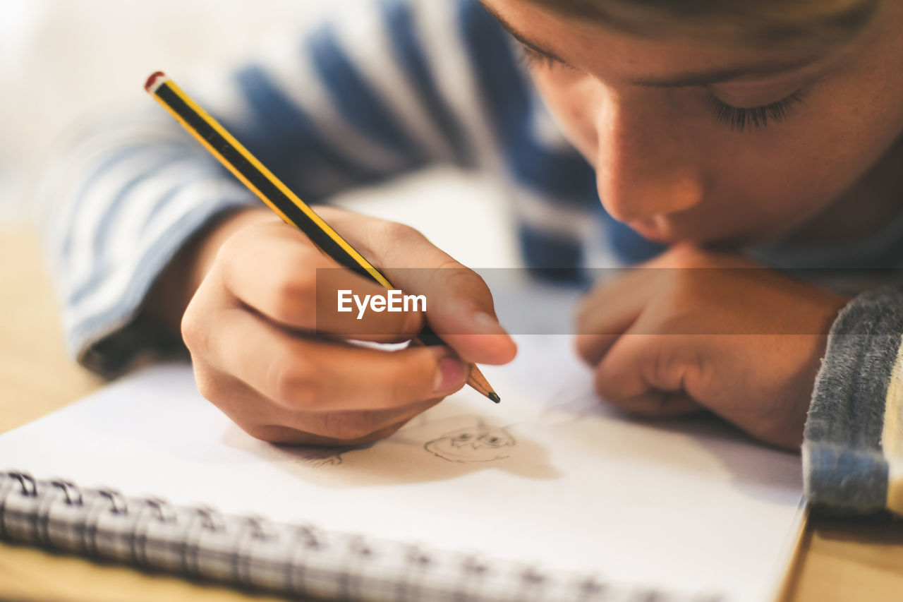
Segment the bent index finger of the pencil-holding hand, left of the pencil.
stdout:
[[386,289],[340,268],[302,232],[283,223],[249,228],[228,240],[218,268],[238,302],[293,329],[392,343],[410,339],[424,325],[417,311],[362,315],[351,298],[349,311],[338,311],[340,290],[353,291],[361,299],[385,296]]

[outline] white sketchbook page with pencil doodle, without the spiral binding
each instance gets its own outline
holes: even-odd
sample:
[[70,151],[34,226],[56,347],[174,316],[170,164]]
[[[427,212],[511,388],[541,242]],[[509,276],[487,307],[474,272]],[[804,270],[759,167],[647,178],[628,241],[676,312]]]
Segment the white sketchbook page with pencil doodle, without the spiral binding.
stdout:
[[630,419],[595,399],[569,337],[518,343],[515,362],[484,370],[500,405],[462,390],[340,456],[248,437],[200,398],[188,366],[164,365],[0,437],[0,467],[768,599],[798,529],[799,457],[710,417]]

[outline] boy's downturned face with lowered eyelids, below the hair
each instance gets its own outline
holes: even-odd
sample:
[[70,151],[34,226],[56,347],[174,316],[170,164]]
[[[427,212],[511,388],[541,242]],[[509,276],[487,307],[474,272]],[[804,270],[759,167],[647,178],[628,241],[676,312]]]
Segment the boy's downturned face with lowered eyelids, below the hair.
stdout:
[[535,82],[605,208],[647,238],[743,244],[835,213],[872,227],[883,216],[861,197],[898,193],[903,2],[812,53],[650,40],[483,1],[534,48]]

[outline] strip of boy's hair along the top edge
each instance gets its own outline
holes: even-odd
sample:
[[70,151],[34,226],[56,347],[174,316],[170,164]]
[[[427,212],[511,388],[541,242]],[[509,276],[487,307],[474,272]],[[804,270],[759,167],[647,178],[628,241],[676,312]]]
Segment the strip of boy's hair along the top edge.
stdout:
[[750,45],[842,42],[880,0],[529,0],[558,14],[646,37]]

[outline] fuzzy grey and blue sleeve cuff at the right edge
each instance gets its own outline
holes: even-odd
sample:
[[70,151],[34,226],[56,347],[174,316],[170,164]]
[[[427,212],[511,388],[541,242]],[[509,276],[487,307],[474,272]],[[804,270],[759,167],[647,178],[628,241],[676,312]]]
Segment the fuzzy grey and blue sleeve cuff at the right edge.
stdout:
[[903,514],[903,287],[863,293],[834,321],[803,466],[810,503]]

